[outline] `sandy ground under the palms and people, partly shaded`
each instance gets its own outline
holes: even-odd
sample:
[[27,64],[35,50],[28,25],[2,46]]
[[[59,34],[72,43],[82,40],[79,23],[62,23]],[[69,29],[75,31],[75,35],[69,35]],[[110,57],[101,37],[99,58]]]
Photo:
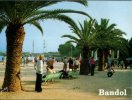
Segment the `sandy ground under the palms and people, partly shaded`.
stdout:
[[[55,69],[62,69],[62,63],[55,63]],[[45,69],[45,66],[44,66]],[[3,83],[5,66],[0,64],[0,88]],[[44,70],[45,71],[45,70]],[[2,99],[55,99],[55,100],[131,100],[132,70],[116,69],[112,78],[106,76],[106,71],[95,72],[95,76],[79,76],[76,79],[56,79],[52,83],[43,83],[43,91],[37,93],[35,87],[35,70],[32,64],[21,67],[21,80],[25,91],[0,93]],[[99,89],[126,89],[127,96],[99,96]]]

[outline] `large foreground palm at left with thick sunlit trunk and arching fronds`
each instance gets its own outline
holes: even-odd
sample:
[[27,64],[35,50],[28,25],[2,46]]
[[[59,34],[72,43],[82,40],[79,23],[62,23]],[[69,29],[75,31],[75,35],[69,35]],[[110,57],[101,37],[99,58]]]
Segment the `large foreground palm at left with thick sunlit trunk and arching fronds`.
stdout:
[[[6,27],[7,40],[7,62],[5,77],[2,88],[9,91],[22,90],[20,80],[20,62],[22,57],[22,46],[25,37],[24,25],[32,24],[42,33],[39,21],[46,19],[57,19],[70,25],[75,22],[64,13],[79,13],[86,16],[88,14],[74,10],[44,10],[44,7],[57,4],[60,1],[0,1],[0,32]],[[75,0],[87,6],[87,0]],[[42,9],[43,8],[43,9]]]

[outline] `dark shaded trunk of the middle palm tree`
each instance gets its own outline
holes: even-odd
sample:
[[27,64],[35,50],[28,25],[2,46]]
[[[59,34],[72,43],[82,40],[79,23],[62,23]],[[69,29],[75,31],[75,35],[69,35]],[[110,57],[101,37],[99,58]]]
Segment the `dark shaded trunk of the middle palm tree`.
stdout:
[[80,75],[88,75],[90,72],[88,54],[89,54],[89,47],[83,47],[83,49],[82,49],[82,63],[80,65]]

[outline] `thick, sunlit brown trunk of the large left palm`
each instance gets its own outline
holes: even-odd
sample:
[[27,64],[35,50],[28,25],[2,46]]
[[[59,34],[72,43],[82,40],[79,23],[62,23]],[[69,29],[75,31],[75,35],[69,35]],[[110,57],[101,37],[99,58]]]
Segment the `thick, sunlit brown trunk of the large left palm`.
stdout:
[[22,90],[20,79],[20,63],[22,58],[22,45],[25,37],[22,24],[9,24],[6,30],[7,62],[2,88],[8,91]]

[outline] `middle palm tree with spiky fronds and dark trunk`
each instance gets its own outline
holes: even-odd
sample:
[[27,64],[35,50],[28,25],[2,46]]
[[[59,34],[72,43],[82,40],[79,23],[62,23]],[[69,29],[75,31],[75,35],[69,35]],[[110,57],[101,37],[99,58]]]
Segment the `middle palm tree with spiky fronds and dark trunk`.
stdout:
[[77,25],[70,26],[72,33],[74,35],[63,35],[62,37],[70,38],[70,41],[76,43],[81,47],[82,50],[82,63],[80,67],[81,75],[88,75],[89,73],[89,50],[94,46],[94,34],[96,33],[95,20],[84,20],[84,24],[79,23],[80,27]]

